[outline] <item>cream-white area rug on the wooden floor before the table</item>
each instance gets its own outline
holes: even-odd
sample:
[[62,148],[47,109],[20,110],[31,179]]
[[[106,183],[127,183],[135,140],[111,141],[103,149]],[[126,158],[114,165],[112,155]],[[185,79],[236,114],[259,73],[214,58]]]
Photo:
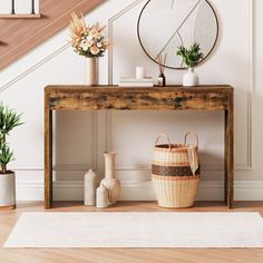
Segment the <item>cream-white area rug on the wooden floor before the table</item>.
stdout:
[[263,247],[259,213],[23,213],[4,247]]

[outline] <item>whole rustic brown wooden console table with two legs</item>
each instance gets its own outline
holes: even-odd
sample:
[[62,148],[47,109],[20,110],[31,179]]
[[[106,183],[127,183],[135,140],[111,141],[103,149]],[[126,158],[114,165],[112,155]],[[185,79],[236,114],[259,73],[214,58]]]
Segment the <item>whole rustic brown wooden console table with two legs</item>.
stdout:
[[[234,90],[231,86],[169,86],[120,88],[118,86],[48,86],[45,89],[45,208],[52,205],[53,110],[224,110],[224,201],[233,205]],[[158,133],[158,130],[156,130]]]

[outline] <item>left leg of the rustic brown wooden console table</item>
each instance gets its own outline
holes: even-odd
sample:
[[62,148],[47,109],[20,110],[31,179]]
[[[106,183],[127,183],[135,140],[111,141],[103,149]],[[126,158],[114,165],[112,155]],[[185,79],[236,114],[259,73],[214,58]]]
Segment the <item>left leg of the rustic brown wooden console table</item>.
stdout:
[[52,204],[52,110],[49,96],[45,96],[45,208]]

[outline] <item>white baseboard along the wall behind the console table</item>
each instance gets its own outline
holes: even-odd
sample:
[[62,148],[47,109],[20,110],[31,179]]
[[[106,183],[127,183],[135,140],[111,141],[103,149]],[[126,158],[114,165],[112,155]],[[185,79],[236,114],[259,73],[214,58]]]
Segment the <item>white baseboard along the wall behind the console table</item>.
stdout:
[[[201,182],[197,199],[223,199],[223,182]],[[84,196],[81,181],[64,181],[53,183],[53,198],[56,201],[81,201]],[[18,201],[42,201],[43,184],[37,182],[17,183]],[[123,183],[121,201],[154,201],[155,194],[150,181],[140,183]],[[235,201],[263,201],[263,181],[236,181]]]

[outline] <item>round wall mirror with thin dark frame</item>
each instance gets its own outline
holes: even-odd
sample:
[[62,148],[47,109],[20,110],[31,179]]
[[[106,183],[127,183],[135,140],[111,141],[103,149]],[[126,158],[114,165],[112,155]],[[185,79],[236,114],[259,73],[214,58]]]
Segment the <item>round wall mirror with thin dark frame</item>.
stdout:
[[198,43],[203,62],[212,52],[218,37],[218,20],[207,0],[149,0],[140,11],[137,33],[147,56],[158,62],[166,57],[165,67],[184,69],[177,48]]

